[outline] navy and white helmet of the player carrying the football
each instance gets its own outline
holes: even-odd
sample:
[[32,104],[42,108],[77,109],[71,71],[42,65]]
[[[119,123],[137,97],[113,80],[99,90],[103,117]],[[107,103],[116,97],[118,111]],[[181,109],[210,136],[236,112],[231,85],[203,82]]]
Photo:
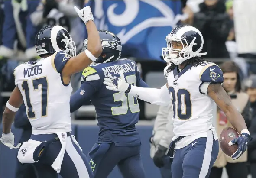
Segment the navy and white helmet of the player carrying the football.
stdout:
[[[166,36],[165,40],[167,47],[162,48],[162,56],[166,62],[179,65],[187,59],[207,54],[207,52],[201,53],[204,38],[201,32],[193,26],[177,26]],[[181,42],[183,49],[172,48],[172,41]]]

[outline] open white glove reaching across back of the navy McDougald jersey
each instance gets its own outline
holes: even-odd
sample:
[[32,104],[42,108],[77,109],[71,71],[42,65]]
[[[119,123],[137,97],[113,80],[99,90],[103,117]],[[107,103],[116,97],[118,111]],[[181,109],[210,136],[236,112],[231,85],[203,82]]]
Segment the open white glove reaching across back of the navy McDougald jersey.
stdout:
[[125,81],[123,70],[120,70],[120,77],[121,78],[117,78],[116,76],[108,74],[107,77],[104,78],[103,83],[107,85],[106,88],[109,90],[129,93],[131,85]]

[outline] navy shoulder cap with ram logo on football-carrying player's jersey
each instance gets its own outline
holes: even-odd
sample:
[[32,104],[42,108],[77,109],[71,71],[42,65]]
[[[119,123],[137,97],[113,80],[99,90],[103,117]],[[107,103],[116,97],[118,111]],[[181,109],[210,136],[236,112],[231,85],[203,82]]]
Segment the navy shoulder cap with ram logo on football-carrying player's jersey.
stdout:
[[223,73],[220,67],[214,63],[206,64],[201,69],[199,78],[202,82],[211,82],[211,83],[222,83],[224,80]]

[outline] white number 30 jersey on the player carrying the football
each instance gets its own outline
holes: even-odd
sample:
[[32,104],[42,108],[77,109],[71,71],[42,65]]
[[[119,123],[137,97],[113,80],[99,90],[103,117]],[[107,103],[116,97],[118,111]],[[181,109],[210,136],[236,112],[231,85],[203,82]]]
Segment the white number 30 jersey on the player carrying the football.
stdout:
[[[169,85],[173,104],[173,132],[175,136],[187,136],[176,143],[176,149],[183,148],[200,137],[207,137],[211,129],[217,139],[213,127],[214,101],[207,95],[210,83],[222,83],[223,74],[214,63],[203,63],[197,67],[186,66],[181,72],[176,67],[173,71],[165,68],[165,77]],[[190,69],[191,68],[191,69]]]

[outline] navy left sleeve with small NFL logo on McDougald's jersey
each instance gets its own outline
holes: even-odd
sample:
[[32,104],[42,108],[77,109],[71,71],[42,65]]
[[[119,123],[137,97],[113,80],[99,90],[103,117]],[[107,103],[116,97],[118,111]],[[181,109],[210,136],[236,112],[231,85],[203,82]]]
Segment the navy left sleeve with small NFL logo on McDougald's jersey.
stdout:
[[87,100],[90,99],[94,92],[95,88],[93,85],[88,82],[82,83],[81,87],[70,98],[70,113],[78,110]]

